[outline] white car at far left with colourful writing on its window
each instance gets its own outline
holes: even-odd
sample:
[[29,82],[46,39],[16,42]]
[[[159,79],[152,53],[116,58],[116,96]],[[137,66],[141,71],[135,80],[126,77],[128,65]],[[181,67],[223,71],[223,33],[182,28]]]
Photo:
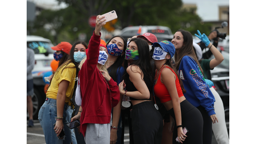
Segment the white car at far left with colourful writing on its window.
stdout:
[[50,64],[53,60],[53,53],[55,52],[51,49],[52,46],[54,45],[49,39],[41,36],[27,35],[27,47],[33,49],[35,52],[35,66],[32,70],[34,83],[34,95],[32,95],[33,119],[38,119],[38,112],[46,98],[43,75],[45,72],[52,70]]

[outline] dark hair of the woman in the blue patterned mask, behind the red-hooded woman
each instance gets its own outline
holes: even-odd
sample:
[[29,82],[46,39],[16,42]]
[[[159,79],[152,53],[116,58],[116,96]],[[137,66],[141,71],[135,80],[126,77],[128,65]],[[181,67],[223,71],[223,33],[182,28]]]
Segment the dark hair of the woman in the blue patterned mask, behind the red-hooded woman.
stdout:
[[[114,36],[112,37],[107,45],[111,42],[112,39],[114,39],[115,37],[120,37],[122,40],[123,40],[123,46],[124,46],[124,49],[123,49],[123,53],[122,55],[118,56],[118,58],[116,59],[116,61],[109,67],[107,68],[107,70],[109,71],[109,75],[110,77],[116,82],[117,81],[117,73],[119,73],[120,71],[120,66],[123,65],[124,63],[124,58],[125,58],[125,50],[127,48],[127,43],[125,41],[125,39],[121,36]],[[106,47],[107,47],[106,45]]]

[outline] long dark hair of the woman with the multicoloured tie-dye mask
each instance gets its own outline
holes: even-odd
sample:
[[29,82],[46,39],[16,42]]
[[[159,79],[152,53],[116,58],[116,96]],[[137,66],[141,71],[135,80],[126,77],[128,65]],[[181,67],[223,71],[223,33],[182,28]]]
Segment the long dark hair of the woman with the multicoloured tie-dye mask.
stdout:
[[[141,69],[141,73],[144,72],[146,75],[148,75],[150,78],[150,83],[153,83],[148,43],[147,43],[147,41],[140,39],[140,38],[133,38],[130,40],[129,43],[131,43],[132,41],[134,41],[135,44],[137,45],[138,52],[139,52],[139,59],[133,60],[130,63],[131,68],[132,68],[132,66],[135,66],[135,65],[139,66],[139,68]],[[128,67],[128,61],[125,60],[124,61],[124,69],[126,70],[127,67]],[[127,77],[128,77],[128,73],[125,72],[123,79],[126,80]],[[141,79],[142,79],[142,75],[141,75]]]

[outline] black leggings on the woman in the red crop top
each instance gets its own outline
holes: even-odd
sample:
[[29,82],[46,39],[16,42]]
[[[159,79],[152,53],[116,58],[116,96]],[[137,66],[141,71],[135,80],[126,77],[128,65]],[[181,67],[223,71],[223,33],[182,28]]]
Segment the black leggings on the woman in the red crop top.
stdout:
[[[182,125],[187,128],[187,137],[183,144],[203,144],[203,118],[200,111],[194,107],[190,102],[184,100],[180,103]],[[175,120],[172,143],[176,144],[177,124],[173,108],[168,113]]]

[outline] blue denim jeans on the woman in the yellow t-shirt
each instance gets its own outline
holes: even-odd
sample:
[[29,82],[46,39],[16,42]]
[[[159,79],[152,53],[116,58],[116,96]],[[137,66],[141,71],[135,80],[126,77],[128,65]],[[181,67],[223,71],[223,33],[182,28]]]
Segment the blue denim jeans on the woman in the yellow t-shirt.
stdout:
[[57,117],[57,104],[55,99],[46,98],[44,104],[39,110],[38,120],[43,128],[46,144],[70,144],[72,142],[71,130],[66,125],[68,121],[67,110],[68,105],[64,105],[63,110],[63,124],[65,136],[63,139],[59,139],[54,131],[54,124],[56,123],[55,117]]

